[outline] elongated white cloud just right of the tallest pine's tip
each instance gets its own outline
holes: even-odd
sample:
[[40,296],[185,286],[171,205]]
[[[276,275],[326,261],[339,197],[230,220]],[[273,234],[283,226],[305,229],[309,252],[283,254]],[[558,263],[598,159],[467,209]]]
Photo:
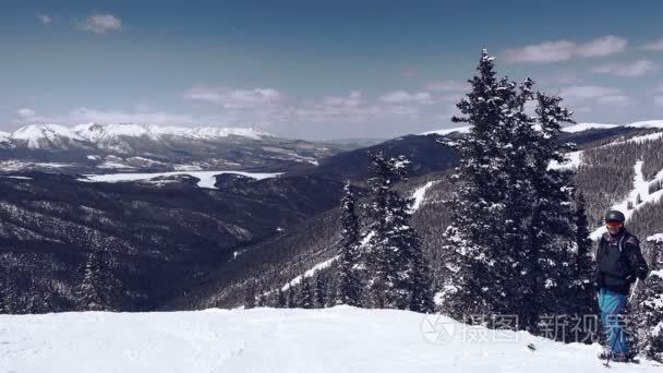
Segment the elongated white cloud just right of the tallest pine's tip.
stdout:
[[551,63],[571,58],[603,57],[626,50],[628,41],[618,36],[603,36],[586,44],[569,40],[550,40],[522,48],[507,49],[507,62]]

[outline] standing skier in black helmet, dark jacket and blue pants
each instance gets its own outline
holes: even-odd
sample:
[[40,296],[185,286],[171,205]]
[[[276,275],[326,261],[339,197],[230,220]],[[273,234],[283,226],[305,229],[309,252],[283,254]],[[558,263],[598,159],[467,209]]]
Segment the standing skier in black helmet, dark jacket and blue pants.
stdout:
[[626,230],[625,220],[624,214],[618,210],[605,215],[607,232],[599,242],[594,274],[601,324],[610,347],[601,357],[618,362],[630,361],[636,354],[635,349],[632,352],[628,349],[623,315],[629,300],[630,285],[636,278],[643,280],[649,272],[640,242]]

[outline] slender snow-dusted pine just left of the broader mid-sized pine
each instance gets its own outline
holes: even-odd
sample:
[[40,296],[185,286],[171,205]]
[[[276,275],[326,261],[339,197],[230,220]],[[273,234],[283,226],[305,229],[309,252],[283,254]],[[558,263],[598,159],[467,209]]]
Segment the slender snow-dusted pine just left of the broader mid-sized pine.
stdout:
[[360,305],[362,281],[359,270],[359,219],[357,198],[350,181],[343,186],[340,201],[340,253],[338,265],[338,304]]

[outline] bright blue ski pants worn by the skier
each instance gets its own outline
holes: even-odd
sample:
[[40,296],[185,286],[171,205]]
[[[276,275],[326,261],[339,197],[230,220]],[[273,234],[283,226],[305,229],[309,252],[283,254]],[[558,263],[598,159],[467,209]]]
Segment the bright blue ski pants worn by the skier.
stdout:
[[601,324],[607,335],[607,344],[614,353],[628,353],[624,311],[628,297],[602,288],[599,290],[599,308],[601,309]]

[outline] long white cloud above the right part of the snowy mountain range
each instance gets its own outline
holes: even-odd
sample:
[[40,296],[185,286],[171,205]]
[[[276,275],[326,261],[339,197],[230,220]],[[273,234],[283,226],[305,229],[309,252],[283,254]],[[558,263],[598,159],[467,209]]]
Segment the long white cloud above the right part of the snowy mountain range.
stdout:
[[246,109],[276,104],[284,96],[274,88],[231,89],[194,86],[184,92],[184,98],[220,105],[227,109]]

